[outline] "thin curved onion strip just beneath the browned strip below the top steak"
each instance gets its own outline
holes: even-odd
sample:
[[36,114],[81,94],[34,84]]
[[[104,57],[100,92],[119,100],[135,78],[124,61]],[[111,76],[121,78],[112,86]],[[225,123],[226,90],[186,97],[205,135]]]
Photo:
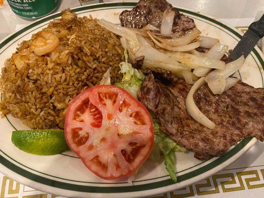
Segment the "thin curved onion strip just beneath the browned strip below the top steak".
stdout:
[[189,51],[189,50],[192,50],[192,49],[196,49],[200,46],[200,42],[197,41],[195,43],[191,43],[191,44],[187,44],[185,46],[180,46],[180,47],[171,47],[171,46],[168,46],[166,44],[162,44],[160,43],[157,39],[155,39],[152,34],[148,31],[147,32],[148,35],[150,36],[150,38],[152,39],[152,41],[157,45],[159,46],[160,48],[163,48],[163,49],[167,49],[169,51]]

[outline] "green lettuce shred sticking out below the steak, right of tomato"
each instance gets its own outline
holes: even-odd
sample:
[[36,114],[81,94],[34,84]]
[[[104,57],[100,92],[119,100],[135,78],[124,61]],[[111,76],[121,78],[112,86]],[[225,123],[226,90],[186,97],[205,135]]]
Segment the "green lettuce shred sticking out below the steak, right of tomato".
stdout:
[[163,133],[160,130],[159,123],[154,123],[154,134],[155,134],[155,146],[157,146],[164,156],[165,168],[169,173],[170,178],[176,182],[177,178],[175,175],[175,158],[174,152],[176,151],[186,151],[186,148],[183,148],[177,145],[171,138]]

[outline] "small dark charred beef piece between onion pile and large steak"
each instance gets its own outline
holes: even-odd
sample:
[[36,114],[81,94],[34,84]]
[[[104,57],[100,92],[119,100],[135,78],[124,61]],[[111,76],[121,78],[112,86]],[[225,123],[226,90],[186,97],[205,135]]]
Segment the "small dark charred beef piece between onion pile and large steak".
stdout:
[[173,75],[170,71],[167,71],[162,68],[146,68],[142,70],[145,74],[153,74],[156,79],[162,81],[164,84],[173,84],[176,83],[178,78]]

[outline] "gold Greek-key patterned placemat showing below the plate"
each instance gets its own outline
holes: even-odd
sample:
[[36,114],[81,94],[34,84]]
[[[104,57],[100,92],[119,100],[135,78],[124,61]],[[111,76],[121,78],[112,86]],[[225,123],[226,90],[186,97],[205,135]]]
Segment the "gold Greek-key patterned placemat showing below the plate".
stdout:
[[[15,182],[2,174],[0,174],[0,184],[0,198],[56,197]],[[204,196],[208,197],[208,195],[213,195],[214,198],[223,198],[223,193],[229,193],[229,195],[225,194],[224,197],[233,197],[231,193],[236,193],[237,196],[241,193],[248,196],[256,194],[255,196],[258,197],[258,191],[247,191],[253,189],[264,190],[264,165],[224,169],[198,183],[152,198],[194,198],[197,196],[203,198]]]

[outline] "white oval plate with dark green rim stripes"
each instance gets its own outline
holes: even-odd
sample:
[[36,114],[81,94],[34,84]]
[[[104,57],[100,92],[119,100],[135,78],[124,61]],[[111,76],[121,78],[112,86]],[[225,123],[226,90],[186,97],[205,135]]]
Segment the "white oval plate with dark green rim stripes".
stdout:
[[[119,13],[129,9],[135,3],[119,2],[94,4],[73,9],[78,16],[105,18],[120,23]],[[195,20],[197,27],[208,35],[220,39],[220,42],[233,49],[241,38],[241,33],[228,25],[201,13],[178,8],[182,13]],[[0,43],[0,65],[15,51],[17,44],[31,38],[33,33],[47,26],[50,20],[60,17],[60,13],[49,15],[6,37]],[[257,47],[246,59],[238,76],[254,87],[263,87],[263,55]],[[0,119],[0,171],[8,177],[43,192],[65,197],[104,197],[127,198],[156,195],[182,188],[202,180],[223,169],[245,153],[255,143],[255,138],[241,141],[221,157],[200,161],[192,152],[176,154],[177,183],[169,178],[163,163],[153,164],[147,161],[136,175],[133,185],[127,180],[106,181],[88,171],[81,160],[71,151],[53,156],[28,154],[11,143],[11,131],[27,129],[18,119],[8,115]]]

